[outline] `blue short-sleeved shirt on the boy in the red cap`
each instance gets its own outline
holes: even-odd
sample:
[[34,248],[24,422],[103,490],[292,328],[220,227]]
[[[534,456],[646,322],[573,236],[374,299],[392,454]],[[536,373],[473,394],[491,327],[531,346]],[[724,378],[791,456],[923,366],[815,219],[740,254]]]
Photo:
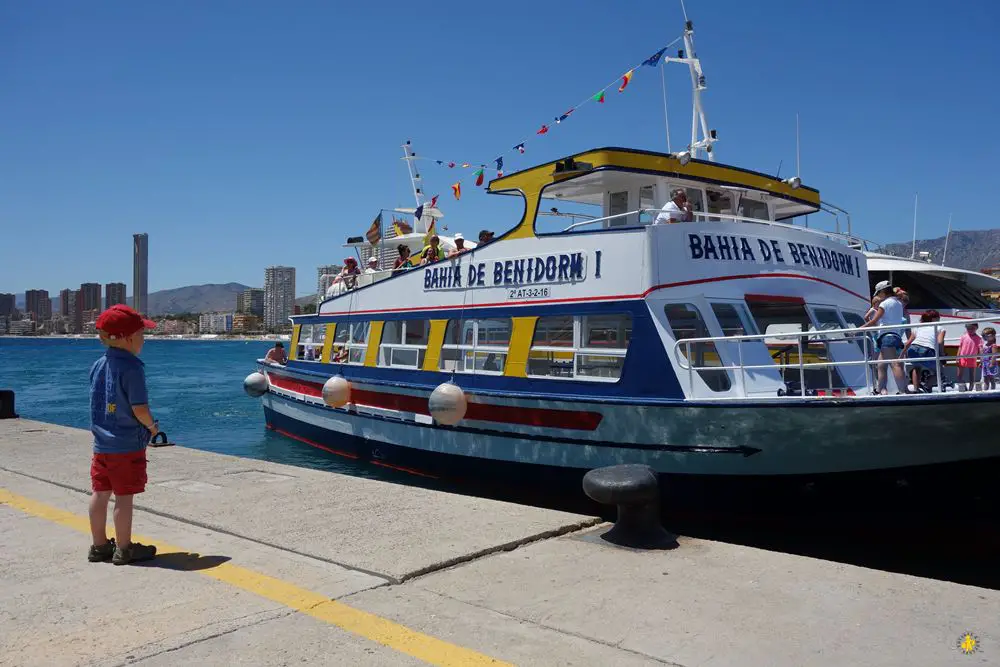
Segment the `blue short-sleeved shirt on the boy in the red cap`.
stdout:
[[132,414],[149,403],[146,372],[139,357],[108,348],[90,369],[90,431],[97,454],[141,451],[152,435]]

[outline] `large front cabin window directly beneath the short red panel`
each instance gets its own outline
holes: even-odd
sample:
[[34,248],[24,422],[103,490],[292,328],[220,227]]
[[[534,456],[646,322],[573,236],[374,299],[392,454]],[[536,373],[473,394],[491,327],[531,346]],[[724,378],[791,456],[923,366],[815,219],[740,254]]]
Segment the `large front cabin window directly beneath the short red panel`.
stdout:
[[[805,302],[798,299],[771,297],[764,295],[746,295],[747,306],[753,315],[757,328],[765,336],[776,334],[791,334],[801,332],[801,336],[782,336],[781,338],[765,338],[771,359],[781,365],[781,375],[785,384],[791,391],[798,391],[801,380],[804,376],[806,389],[843,389],[844,382],[841,379],[839,369],[831,366],[813,366],[799,368],[799,346],[802,350],[802,361],[804,363],[830,362],[830,350],[827,346],[827,338],[823,336],[810,336],[809,332],[817,330],[809,312],[806,310]],[[836,318],[836,311],[832,316]],[[819,316],[817,315],[817,319]],[[819,328],[843,328],[840,320],[836,320],[836,327]]]

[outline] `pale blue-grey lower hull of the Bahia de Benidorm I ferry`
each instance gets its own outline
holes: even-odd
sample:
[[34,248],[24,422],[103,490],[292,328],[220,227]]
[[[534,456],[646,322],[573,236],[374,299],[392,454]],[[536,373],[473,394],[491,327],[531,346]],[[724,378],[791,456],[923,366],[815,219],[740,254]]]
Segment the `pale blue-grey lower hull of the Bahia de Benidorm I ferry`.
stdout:
[[[1000,456],[997,395],[929,401],[920,421],[909,397],[749,405],[575,405],[600,411],[602,426],[586,438],[567,430],[498,424],[442,426],[365,406],[334,409],[309,397],[263,397],[269,427],[352,458],[437,475],[456,467],[502,472],[537,468],[581,474],[641,463],[682,476],[814,476],[971,465]],[[566,407],[553,405],[552,407]],[[605,425],[607,430],[605,430]],[[446,465],[439,465],[450,461]],[[464,466],[455,466],[455,461]]]

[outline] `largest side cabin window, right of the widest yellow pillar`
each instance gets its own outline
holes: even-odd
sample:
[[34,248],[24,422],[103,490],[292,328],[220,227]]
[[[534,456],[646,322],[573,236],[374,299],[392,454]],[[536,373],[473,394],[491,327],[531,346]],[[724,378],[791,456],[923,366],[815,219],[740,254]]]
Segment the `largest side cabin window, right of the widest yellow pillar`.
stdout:
[[632,339],[632,315],[540,317],[528,353],[528,376],[615,382]]

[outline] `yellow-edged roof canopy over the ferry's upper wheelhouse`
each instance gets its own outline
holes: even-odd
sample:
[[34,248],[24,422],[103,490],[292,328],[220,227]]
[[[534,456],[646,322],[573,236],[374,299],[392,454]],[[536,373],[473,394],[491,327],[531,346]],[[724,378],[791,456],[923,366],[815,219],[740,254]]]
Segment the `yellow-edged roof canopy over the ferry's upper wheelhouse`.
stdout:
[[489,192],[601,205],[606,193],[651,183],[650,176],[671,187],[721,190],[723,196],[729,191],[766,200],[775,220],[820,209],[819,191],[801,185],[798,179],[781,180],[716,162],[627,148],[597,148],[515,172],[490,182]]

